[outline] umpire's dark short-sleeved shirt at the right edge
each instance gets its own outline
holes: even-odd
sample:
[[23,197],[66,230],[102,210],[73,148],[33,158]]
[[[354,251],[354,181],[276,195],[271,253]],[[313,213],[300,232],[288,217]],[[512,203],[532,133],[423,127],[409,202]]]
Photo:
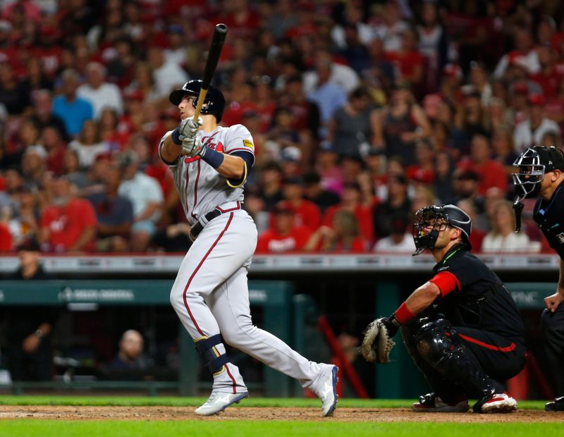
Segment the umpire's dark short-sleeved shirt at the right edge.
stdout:
[[542,197],[534,205],[533,219],[548,244],[564,259],[564,183],[560,183],[550,200]]

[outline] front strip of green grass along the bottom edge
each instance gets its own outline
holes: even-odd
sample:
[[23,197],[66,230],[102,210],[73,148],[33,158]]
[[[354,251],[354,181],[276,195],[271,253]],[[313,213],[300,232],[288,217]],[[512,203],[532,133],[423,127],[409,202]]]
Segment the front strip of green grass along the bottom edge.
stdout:
[[562,435],[562,424],[343,423],[301,421],[0,421],[0,436],[25,437],[413,437]]

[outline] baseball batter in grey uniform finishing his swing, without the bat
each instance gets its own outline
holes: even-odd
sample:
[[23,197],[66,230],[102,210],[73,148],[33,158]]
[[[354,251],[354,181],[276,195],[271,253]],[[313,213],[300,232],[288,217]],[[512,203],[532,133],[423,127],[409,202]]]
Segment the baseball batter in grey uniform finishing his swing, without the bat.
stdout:
[[241,203],[255,147],[245,126],[217,125],[225,99],[216,87],[209,87],[202,117],[193,120],[201,87],[201,80],[192,80],[171,92],[182,121],[159,144],[193,240],[174,281],[171,304],[214,377],[212,394],[195,412],[216,414],[248,395],[238,367],[226,356],[221,333],[229,345],[298,379],[321,399],[322,416],[329,416],[337,403],[337,367],[309,361],[252,324],[247,270],[257,228]]

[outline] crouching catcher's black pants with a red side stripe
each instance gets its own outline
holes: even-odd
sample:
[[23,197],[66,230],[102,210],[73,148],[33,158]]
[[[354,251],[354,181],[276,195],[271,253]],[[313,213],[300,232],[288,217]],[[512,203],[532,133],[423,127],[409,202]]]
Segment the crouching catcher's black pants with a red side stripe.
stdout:
[[[415,346],[415,338],[417,338],[419,328],[419,325],[412,324],[401,329],[407,351],[424,374],[434,393],[446,402],[460,400],[466,393],[456,383],[457,375],[443,376],[419,354]],[[513,378],[525,367],[527,350],[524,345],[479,329],[465,326],[453,326],[451,329],[458,334],[470,353],[476,357],[484,373],[489,376],[488,382],[496,388],[498,393],[503,393],[505,390],[503,381]]]

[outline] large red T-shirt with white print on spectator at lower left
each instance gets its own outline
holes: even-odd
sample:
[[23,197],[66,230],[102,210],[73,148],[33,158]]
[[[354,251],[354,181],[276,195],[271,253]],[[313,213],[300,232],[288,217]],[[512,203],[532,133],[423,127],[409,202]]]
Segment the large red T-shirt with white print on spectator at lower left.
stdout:
[[[42,228],[49,229],[49,244],[55,252],[68,251],[89,227],[96,226],[96,214],[92,204],[85,199],[72,199],[58,207],[49,205],[41,216]],[[84,247],[94,250],[94,238]]]

